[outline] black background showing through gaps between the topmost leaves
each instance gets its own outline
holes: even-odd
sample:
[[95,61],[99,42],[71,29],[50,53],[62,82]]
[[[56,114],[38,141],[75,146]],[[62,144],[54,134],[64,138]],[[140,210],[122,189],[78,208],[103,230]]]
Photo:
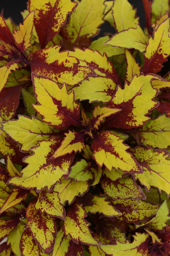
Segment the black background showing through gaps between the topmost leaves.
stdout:
[[[40,0],[41,1],[41,0]],[[143,8],[142,0],[128,0],[130,4],[137,8],[137,15],[140,17],[140,26],[143,29],[145,27],[145,13]],[[20,14],[21,11],[27,9],[27,3],[25,0],[0,0],[0,12],[4,8],[4,18],[11,17],[16,24],[22,23],[23,19]],[[98,36],[103,36],[104,32],[115,33],[114,28],[109,26],[108,22],[105,22],[101,26],[101,31]],[[98,37],[97,36],[97,37]],[[95,40],[97,38],[94,38]]]

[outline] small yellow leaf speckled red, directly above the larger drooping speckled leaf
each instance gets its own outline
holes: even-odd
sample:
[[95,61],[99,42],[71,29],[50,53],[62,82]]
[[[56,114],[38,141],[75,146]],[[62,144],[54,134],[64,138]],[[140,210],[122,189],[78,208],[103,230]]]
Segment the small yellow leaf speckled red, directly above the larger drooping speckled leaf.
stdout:
[[40,210],[41,214],[46,212],[49,216],[65,219],[66,211],[60,204],[58,193],[51,191],[48,193],[46,189],[38,194],[38,200],[35,204],[35,209]]

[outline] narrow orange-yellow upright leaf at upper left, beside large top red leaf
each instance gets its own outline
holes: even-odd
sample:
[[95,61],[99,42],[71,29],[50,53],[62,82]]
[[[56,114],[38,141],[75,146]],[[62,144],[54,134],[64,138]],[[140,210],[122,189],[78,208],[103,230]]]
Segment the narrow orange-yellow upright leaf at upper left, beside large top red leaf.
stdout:
[[31,12],[23,21],[23,25],[19,24],[19,30],[14,30],[13,36],[20,52],[28,50],[31,46],[31,32],[34,25],[34,11]]

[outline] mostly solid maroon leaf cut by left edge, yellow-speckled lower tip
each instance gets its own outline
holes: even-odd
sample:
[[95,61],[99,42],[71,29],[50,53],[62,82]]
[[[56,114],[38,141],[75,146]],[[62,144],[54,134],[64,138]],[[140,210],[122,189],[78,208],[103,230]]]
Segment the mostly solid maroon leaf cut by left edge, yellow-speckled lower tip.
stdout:
[[0,111],[2,118],[10,120],[14,118],[19,105],[20,86],[4,88],[0,93]]

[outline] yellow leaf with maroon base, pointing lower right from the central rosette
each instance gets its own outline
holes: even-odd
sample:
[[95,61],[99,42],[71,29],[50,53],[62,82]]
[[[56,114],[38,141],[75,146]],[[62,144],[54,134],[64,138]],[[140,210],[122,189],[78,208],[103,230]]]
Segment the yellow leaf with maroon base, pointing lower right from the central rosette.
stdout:
[[129,146],[123,144],[123,141],[109,131],[101,131],[91,145],[93,158],[100,167],[104,164],[110,172],[114,167],[125,172],[141,173],[136,160],[126,151]]

